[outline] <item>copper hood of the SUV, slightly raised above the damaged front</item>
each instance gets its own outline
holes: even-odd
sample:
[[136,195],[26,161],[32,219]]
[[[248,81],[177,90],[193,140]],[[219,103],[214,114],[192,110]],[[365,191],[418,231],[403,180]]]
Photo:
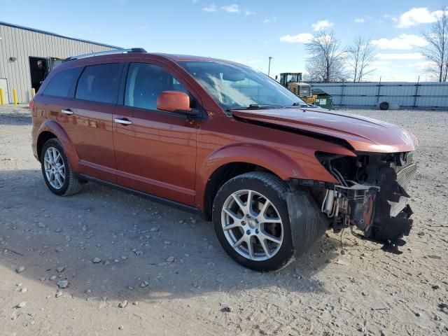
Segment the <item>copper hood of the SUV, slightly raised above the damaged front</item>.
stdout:
[[414,134],[396,125],[325,109],[233,110],[232,114],[246,120],[343,139],[361,152],[410,152],[419,144]]

